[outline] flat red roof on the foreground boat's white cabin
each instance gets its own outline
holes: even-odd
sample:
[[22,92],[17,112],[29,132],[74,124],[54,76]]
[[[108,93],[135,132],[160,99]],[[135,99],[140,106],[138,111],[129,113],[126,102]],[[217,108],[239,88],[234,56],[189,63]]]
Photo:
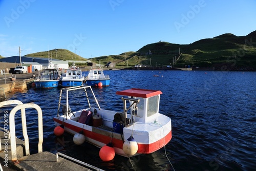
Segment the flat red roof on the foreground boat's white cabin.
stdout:
[[156,96],[163,93],[160,90],[146,90],[146,89],[132,88],[129,90],[117,91],[116,94],[123,95],[123,96],[148,98],[148,97]]

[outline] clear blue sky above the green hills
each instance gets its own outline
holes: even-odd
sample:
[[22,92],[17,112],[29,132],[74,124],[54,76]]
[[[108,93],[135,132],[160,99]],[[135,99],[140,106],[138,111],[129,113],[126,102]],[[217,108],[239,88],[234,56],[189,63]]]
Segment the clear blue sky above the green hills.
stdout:
[[256,30],[255,0],[0,0],[0,55],[68,49],[84,58]]

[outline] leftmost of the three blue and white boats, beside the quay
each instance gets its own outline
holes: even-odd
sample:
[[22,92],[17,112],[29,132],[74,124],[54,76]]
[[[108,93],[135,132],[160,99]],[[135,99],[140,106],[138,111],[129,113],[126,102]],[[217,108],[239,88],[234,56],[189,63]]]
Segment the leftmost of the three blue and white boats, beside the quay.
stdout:
[[35,78],[33,86],[36,89],[49,89],[58,87],[60,74],[56,69],[44,69],[38,74],[39,77]]

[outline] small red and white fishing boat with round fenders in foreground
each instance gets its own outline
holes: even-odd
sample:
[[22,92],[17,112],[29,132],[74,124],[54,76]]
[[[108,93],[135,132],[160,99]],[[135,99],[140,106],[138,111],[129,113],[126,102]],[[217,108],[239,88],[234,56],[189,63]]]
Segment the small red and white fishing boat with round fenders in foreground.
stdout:
[[[66,131],[74,135],[77,145],[86,141],[101,148],[99,155],[103,161],[108,159],[102,153],[111,154],[106,151],[108,148],[124,157],[153,153],[172,139],[171,119],[159,113],[161,94],[161,91],[134,88],[117,91],[123,108],[112,111],[100,108],[91,86],[62,88],[57,116],[53,118],[54,134],[61,136]],[[87,107],[84,103],[83,108],[77,106],[74,99],[78,96],[79,102],[88,102]]]

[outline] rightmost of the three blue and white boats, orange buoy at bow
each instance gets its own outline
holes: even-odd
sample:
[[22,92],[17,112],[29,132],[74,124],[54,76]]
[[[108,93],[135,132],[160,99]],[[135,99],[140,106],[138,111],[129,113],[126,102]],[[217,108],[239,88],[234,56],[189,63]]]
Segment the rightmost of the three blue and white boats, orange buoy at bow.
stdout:
[[104,75],[101,68],[91,69],[86,77],[86,84],[93,87],[107,87],[110,85],[110,76]]

